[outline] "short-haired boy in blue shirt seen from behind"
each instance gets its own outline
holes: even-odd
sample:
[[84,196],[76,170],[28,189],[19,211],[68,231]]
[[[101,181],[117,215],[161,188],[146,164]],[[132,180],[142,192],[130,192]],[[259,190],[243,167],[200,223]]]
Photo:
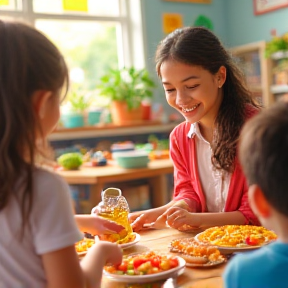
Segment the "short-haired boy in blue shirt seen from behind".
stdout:
[[232,258],[224,272],[227,288],[288,287],[288,103],[279,102],[245,124],[240,161],[249,201],[263,226],[278,239]]

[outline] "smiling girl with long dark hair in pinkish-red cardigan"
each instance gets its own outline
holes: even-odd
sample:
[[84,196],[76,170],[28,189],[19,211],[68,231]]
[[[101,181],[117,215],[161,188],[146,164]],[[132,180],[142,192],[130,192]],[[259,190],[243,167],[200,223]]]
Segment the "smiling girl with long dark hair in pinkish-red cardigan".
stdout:
[[147,223],[179,230],[258,225],[248,204],[237,144],[244,122],[259,106],[229,53],[211,31],[186,27],[161,41],[156,71],[168,104],[186,121],[170,134],[173,200],[130,214],[134,230]]

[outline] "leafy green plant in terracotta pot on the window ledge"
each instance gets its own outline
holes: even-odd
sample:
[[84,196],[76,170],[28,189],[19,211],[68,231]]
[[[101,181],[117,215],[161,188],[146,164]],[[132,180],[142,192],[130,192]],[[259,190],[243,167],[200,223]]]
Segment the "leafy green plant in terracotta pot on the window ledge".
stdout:
[[109,98],[112,120],[123,125],[143,119],[142,101],[152,98],[155,82],[146,69],[109,69],[97,85],[99,94]]

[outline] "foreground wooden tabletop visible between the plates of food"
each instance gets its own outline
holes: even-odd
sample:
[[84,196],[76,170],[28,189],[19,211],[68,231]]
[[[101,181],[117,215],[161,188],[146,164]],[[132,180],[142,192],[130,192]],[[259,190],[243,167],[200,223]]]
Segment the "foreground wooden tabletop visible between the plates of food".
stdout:
[[[169,253],[169,243],[173,239],[185,238],[190,236],[192,237],[195,236],[197,233],[183,233],[175,229],[169,228],[162,230],[143,230],[139,233],[141,235],[140,241],[135,246],[123,250],[123,254],[127,255],[131,253],[142,253],[147,250],[154,250],[161,253]],[[178,277],[177,285],[179,288],[222,288],[223,281],[221,275],[223,273],[225,265],[226,264],[221,264],[210,268],[186,267],[184,274]],[[160,288],[162,283],[154,283],[154,286],[148,286],[147,284],[137,285],[138,286],[129,286],[127,283],[118,283],[115,281],[111,281],[104,276],[101,288]]]

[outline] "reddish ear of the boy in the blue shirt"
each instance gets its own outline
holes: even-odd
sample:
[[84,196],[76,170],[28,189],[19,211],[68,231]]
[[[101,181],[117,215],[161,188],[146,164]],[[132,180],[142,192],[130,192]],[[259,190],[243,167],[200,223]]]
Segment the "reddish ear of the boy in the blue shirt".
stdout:
[[249,202],[252,210],[257,216],[267,218],[271,213],[271,206],[263,194],[262,189],[253,184],[249,187]]

